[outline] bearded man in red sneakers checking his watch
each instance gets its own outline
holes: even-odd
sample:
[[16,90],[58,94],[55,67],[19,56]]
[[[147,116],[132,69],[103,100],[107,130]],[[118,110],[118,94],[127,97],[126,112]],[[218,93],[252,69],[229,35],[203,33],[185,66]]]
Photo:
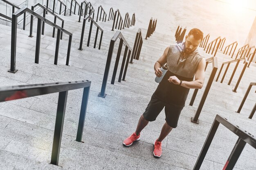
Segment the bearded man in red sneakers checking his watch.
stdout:
[[202,39],[202,31],[193,28],[186,36],[185,42],[171,45],[164,50],[164,54],[154,65],[155,75],[162,76],[160,68],[165,63],[168,70],[152,95],[146,111],[141,115],[135,133],[124,140],[125,146],[138,141],[142,129],[149,121],[154,121],[165,107],[166,122],[154,143],[153,151],[155,157],[162,155],[162,140],[177,127],[189,89],[201,89],[204,84],[206,61],[197,50]]

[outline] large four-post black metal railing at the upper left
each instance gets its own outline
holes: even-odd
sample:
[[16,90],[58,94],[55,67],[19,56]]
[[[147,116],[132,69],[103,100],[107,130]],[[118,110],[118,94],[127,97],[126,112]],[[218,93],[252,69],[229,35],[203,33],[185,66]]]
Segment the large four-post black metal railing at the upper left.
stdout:
[[50,22],[46,18],[42,17],[41,15],[35,13],[29,8],[21,8],[15,13],[12,14],[11,20],[11,68],[8,72],[16,73],[16,40],[17,40],[17,18],[22,15],[23,13],[29,13],[37,17],[37,31],[36,31],[36,54],[35,54],[35,63],[39,63],[39,53],[40,53],[40,38],[41,38],[41,31],[42,31],[42,22],[49,24],[50,26],[55,27],[58,29],[57,31],[57,40],[56,40],[56,50],[55,50],[55,58],[54,64],[57,65],[58,62],[58,50],[61,38],[61,31],[69,35],[68,47],[67,47],[67,60],[66,65],[69,64],[70,59],[70,49],[71,49],[71,42],[72,42],[72,33],[66,31],[65,29],[61,28],[60,26]]

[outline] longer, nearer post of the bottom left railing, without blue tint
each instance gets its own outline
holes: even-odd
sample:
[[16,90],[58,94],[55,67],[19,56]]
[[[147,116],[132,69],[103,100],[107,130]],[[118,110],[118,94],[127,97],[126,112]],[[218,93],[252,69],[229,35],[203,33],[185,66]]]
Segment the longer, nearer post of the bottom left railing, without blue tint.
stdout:
[[60,155],[61,137],[62,137],[66,103],[67,103],[67,92],[68,91],[59,92],[59,95],[58,95],[58,106],[57,106],[57,113],[56,113],[56,122],[55,122],[54,137],[53,137],[53,144],[52,144],[52,158],[51,158],[51,164],[54,164],[54,165],[58,165],[58,158]]

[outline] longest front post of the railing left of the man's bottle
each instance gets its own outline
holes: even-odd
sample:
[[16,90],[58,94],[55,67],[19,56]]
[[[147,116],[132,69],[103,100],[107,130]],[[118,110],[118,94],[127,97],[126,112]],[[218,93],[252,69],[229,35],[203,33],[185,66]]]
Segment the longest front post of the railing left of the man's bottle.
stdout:
[[106,67],[105,67],[105,71],[104,71],[103,82],[101,85],[101,92],[98,95],[99,97],[102,97],[102,98],[105,98],[107,95],[107,94],[105,94],[105,91],[106,91],[106,86],[107,86],[107,81],[108,81],[108,73],[110,70],[110,64],[111,64],[112,54],[113,54],[113,50],[114,50],[114,45],[115,45],[115,41],[110,40],[110,45],[109,45],[109,49],[108,49],[108,58],[107,58]]

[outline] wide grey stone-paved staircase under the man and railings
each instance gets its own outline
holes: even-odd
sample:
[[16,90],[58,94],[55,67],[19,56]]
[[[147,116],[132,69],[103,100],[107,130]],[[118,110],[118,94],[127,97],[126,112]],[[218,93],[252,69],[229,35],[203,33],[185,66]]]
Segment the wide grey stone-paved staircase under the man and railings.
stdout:
[[[59,166],[49,164],[58,94],[2,102],[0,103],[0,169],[159,169],[159,167],[161,169],[193,169],[216,114],[256,134],[255,118],[248,119],[255,104],[255,88],[249,94],[241,113],[235,112],[249,82],[256,81],[255,65],[251,65],[246,70],[237,93],[232,92],[232,89],[239,74],[235,74],[230,86],[227,85],[231,68],[234,68],[230,66],[230,71],[223,83],[220,83],[220,80],[213,82],[199,118],[200,124],[190,122],[211,72],[211,64],[209,64],[204,87],[199,90],[193,106],[188,105],[193,94],[193,89],[190,90],[178,127],[163,141],[163,155],[160,159],[156,159],[152,152],[153,142],[164,124],[164,111],[155,122],[150,122],[146,126],[139,142],[134,143],[133,146],[124,147],[123,140],[135,131],[137,121],[158,85],[154,81],[153,65],[169,44],[175,44],[173,37],[175,30],[168,35],[156,31],[148,40],[144,39],[139,60],[133,60],[134,63],[128,66],[126,81],[117,82],[118,71],[115,85],[111,85],[118,40],[108,77],[107,96],[100,98],[98,94],[103,80],[109,43],[117,30],[111,31],[111,21],[98,22],[104,30],[103,40],[101,50],[97,47],[94,49],[95,27],[93,27],[90,47],[86,46],[90,28],[90,23],[87,22],[83,50],[80,51],[77,49],[81,38],[82,22],[77,22],[77,15],[60,15],[60,17],[65,20],[64,28],[73,33],[70,66],[65,65],[68,37],[64,33],[60,44],[58,65],[54,65],[56,39],[52,38],[52,28],[49,26],[45,26],[45,35],[41,36],[39,64],[34,63],[36,44],[36,20],[34,20],[34,37],[28,37],[29,25],[26,27],[27,31],[18,29],[16,50],[18,72],[16,74],[7,72],[10,64],[11,27],[0,25],[0,86],[86,79],[92,81],[83,132],[84,143],[75,141],[81,107],[81,89],[70,91],[68,94]],[[47,18],[53,17],[47,15]],[[136,24],[121,30],[131,48],[137,30]],[[146,29],[143,28],[142,33],[145,37]],[[123,52],[124,48],[121,55]],[[202,49],[200,53],[205,58],[211,57]],[[221,52],[216,56],[219,68],[222,62],[230,60]],[[242,67],[243,64],[240,63],[238,70]],[[223,168],[237,138],[225,127],[220,126],[201,169]],[[236,169],[256,169],[255,157],[255,149],[247,145],[236,163]]]

